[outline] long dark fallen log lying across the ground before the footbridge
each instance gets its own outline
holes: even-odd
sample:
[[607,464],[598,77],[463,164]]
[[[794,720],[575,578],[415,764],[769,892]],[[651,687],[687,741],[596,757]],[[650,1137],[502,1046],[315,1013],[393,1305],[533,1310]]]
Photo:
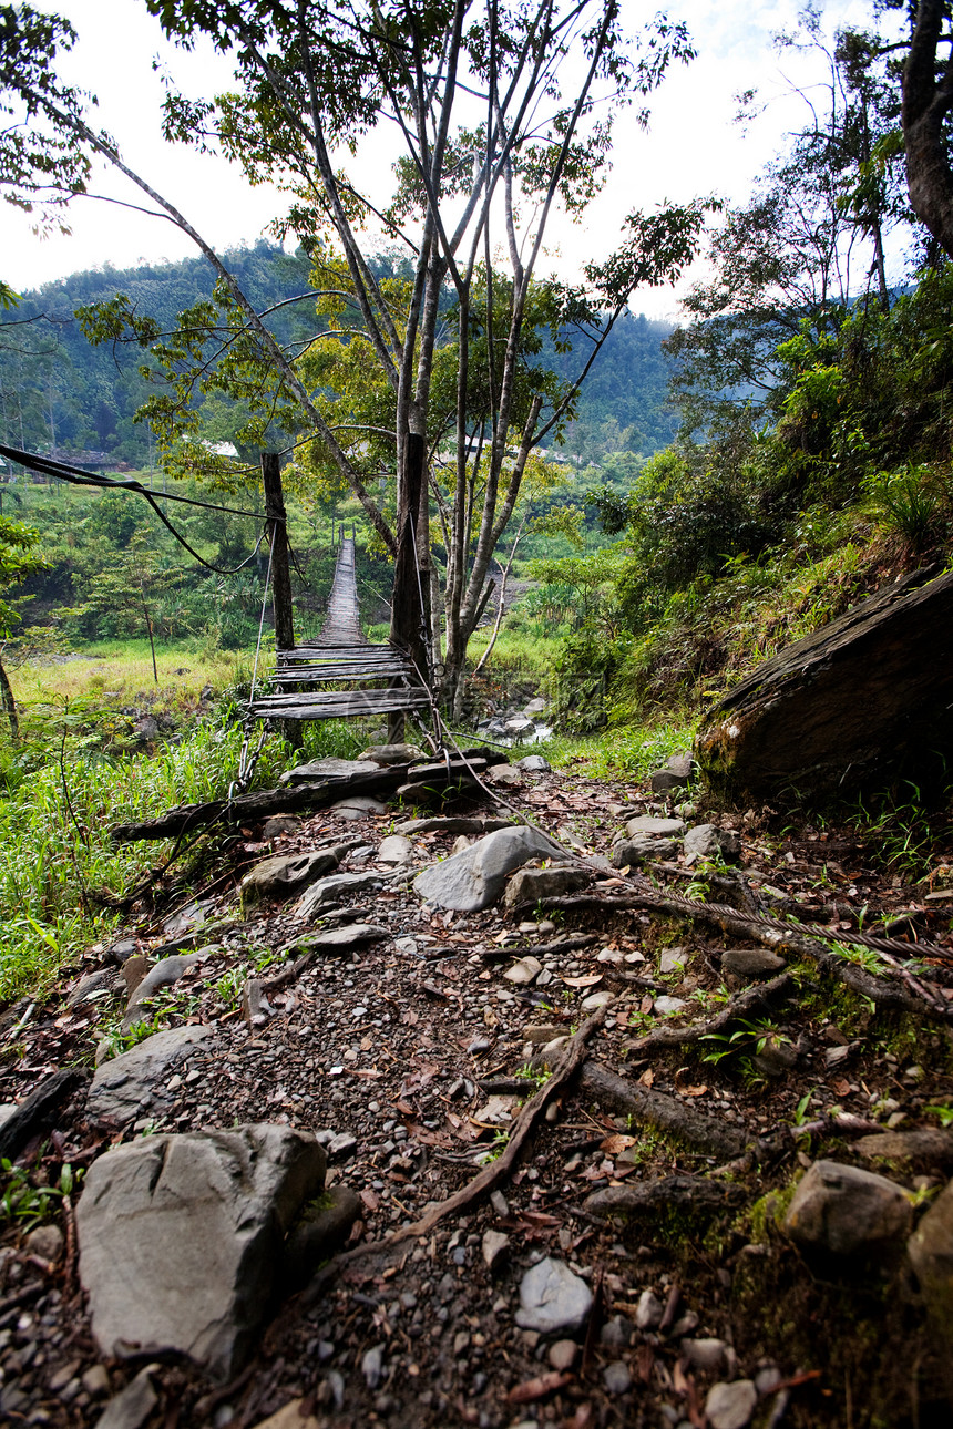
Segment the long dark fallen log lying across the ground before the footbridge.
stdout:
[[[467,759],[482,759],[487,765],[500,763],[506,759],[499,750],[473,749],[467,750]],[[459,762],[457,762],[459,766]],[[446,776],[447,782],[456,780],[459,767]],[[419,765],[390,765],[386,769],[377,765],[369,767],[367,773],[347,775],[346,777],[329,777],[313,783],[300,783],[283,789],[263,789],[253,795],[239,795],[236,799],[210,799],[200,805],[179,805],[159,819],[146,823],[117,823],[110,829],[113,843],[137,843],[146,839],[177,839],[186,833],[197,833],[200,829],[210,829],[214,825],[240,827],[241,825],[260,823],[276,813],[304,813],[310,809],[326,809],[349,795],[393,795]],[[439,785],[444,765],[430,766],[436,773],[429,773],[427,783]]]

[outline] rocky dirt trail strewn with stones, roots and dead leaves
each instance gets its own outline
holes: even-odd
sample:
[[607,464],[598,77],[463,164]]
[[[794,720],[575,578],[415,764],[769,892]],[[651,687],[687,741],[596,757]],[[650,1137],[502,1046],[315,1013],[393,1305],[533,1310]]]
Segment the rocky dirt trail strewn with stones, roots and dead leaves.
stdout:
[[946,862],[523,763],[6,1010],[3,1422],[950,1422]]

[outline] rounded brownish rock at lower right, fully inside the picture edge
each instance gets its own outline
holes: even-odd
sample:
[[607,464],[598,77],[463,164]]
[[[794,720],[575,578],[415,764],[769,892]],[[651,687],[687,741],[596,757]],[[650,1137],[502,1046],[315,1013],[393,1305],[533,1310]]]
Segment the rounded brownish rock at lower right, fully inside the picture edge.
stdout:
[[896,1182],[819,1160],[794,1192],[784,1230],[812,1250],[864,1256],[896,1248],[910,1233],[912,1220],[910,1200]]

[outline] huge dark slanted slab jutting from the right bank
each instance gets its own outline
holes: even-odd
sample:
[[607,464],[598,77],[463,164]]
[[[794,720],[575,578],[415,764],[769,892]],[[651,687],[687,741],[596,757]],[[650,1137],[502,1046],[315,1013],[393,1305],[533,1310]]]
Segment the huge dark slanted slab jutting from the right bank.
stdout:
[[719,700],[694,749],[709,785],[777,797],[939,777],[953,755],[953,573],[917,580],[863,600]]

